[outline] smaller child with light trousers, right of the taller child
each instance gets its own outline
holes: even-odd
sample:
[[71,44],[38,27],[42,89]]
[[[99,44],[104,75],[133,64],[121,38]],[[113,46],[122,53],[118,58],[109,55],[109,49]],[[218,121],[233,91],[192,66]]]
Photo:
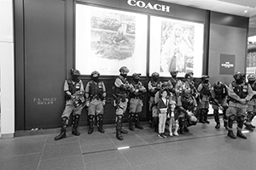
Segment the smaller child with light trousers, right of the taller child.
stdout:
[[176,108],[176,102],[174,100],[170,101],[170,114],[167,115],[167,117],[169,118],[170,116],[170,121],[169,121],[169,132],[170,132],[170,136],[172,137],[172,127],[175,127],[175,130],[173,132],[174,136],[178,136],[177,133],[177,129],[178,129],[178,113]]

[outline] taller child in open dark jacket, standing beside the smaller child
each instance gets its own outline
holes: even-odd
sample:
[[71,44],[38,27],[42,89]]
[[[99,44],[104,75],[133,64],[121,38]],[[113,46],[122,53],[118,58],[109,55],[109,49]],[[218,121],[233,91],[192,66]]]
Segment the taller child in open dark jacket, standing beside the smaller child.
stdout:
[[160,138],[166,138],[165,128],[166,128],[166,115],[168,111],[169,99],[167,99],[167,89],[160,91],[160,99],[157,103],[157,111],[159,116],[159,133]]

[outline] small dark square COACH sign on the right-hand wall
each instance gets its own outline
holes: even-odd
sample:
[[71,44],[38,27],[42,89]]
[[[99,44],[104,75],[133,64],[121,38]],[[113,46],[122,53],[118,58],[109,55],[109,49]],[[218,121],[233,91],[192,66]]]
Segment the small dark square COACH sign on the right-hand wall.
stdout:
[[235,55],[220,54],[219,74],[233,75],[235,72]]

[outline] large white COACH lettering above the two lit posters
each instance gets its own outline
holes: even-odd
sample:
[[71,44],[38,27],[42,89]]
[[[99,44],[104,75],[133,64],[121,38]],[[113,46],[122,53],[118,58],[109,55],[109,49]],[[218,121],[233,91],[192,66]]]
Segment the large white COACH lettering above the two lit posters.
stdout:
[[136,0],[127,0],[127,3],[130,6],[134,6],[134,7],[150,8],[150,9],[153,9],[153,10],[170,12],[170,6],[160,5],[158,3],[152,4],[152,3],[145,3],[143,1],[136,1]]

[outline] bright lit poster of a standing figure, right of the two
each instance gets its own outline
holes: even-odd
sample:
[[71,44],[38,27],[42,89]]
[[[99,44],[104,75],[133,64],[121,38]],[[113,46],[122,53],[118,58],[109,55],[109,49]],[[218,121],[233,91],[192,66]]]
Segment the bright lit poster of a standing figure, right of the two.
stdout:
[[170,77],[170,71],[178,71],[183,77],[193,71],[201,77],[203,36],[203,24],[150,16],[149,73]]

